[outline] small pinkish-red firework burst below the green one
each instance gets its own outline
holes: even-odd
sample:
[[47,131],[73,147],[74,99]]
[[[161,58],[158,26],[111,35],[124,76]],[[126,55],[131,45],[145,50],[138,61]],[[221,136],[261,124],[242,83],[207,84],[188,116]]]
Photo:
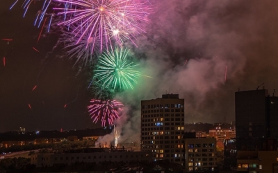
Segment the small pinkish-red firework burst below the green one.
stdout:
[[92,122],[101,120],[101,126],[113,125],[113,121],[119,118],[119,111],[124,106],[122,102],[117,100],[90,100],[88,111],[92,118]]

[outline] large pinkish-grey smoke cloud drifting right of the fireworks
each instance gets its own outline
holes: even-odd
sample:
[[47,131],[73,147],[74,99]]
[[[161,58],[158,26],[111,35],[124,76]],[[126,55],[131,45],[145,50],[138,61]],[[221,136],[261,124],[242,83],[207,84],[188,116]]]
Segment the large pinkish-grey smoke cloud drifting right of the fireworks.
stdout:
[[140,143],[140,100],[178,93],[186,123],[231,122],[235,91],[263,82],[270,93],[275,89],[277,1],[151,3],[147,33],[136,40],[138,48],[126,46],[140,58],[142,74],[152,78],[142,77],[134,91],[117,96],[129,106],[124,123],[116,122],[122,140]]

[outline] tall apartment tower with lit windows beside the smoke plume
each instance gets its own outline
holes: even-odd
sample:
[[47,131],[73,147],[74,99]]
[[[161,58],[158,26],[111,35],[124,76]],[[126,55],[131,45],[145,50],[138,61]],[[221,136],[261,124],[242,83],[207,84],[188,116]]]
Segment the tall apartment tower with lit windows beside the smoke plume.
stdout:
[[141,151],[154,161],[184,164],[184,99],[179,94],[141,101]]

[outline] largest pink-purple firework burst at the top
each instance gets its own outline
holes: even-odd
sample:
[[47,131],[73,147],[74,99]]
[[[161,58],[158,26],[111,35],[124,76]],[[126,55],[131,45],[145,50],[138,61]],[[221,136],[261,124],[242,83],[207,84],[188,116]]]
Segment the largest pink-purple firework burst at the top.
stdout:
[[[100,41],[100,51],[103,45],[135,39],[135,35],[145,32],[143,24],[147,22],[149,6],[144,1],[135,0],[55,0],[65,3],[65,8],[58,15],[64,15],[60,25],[74,26],[72,31],[79,44],[83,37],[96,38]],[[94,45],[94,44],[93,44]]]

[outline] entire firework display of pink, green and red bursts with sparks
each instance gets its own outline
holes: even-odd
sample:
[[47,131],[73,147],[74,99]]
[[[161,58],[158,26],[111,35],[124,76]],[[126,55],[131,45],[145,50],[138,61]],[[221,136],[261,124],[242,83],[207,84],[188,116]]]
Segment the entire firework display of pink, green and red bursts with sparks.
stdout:
[[[123,104],[113,100],[115,95],[126,89],[134,89],[140,72],[138,64],[130,62],[129,50],[124,43],[133,42],[136,36],[145,33],[149,15],[147,0],[15,0],[10,9],[22,3],[24,17],[30,6],[40,6],[35,15],[34,26],[42,26],[37,44],[44,28],[58,30],[58,42],[54,48],[63,46],[63,55],[74,59],[75,64],[93,69],[89,87],[94,95],[88,112],[92,122],[101,126],[112,126],[119,118]],[[51,12],[50,12],[51,10]],[[52,18],[55,26],[51,24]],[[48,22],[47,22],[48,21]],[[49,24],[44,27],[44,24]],[[53,26],[53,27],[50,27]],[[57,29],[58,28],[58,29]],[[41,53],[33,46],[33,50]],[[105,49],[105,50],[104,50]],[[110,51],[111,50],[111,51]],[[3,57],[6,65],[6,57]],[[79,66],[80,67],[80,66]],[[33,90],[37,85],[33,87]],[[31,109],[31,104],[28,104]],[[64,105],[64,109],[67,104]],[[115,146],[120,137],[115,132]]]

